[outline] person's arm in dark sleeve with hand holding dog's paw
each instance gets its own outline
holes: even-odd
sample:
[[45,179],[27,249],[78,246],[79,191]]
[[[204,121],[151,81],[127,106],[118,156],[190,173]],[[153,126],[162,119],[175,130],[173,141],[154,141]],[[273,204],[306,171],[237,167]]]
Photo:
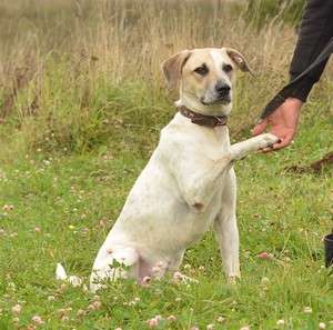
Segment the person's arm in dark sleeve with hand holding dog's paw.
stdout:
[[[333,37],[333,1],[309,0],[304,10],[301,30],[294,56],[290,66],[290,76],[293,81],[316,59]],[[262,133],[268,126],[271,132],[276,134],[281,142],[274,144],[270,150],[282,149],[293,140],[301,113],[302,104],[313,87],[319,81],[327,60],[317,64],[302,79],[283,89],[285,101],[274,112],[262,118],[252,133]]]

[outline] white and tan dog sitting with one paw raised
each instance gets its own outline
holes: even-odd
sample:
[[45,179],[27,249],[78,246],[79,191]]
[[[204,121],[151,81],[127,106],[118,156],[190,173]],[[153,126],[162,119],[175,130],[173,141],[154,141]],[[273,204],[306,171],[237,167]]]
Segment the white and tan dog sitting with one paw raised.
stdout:
[[[93,263],[91,290],[107,279],[161,277],[176,271],[185,249],[213,224],[224,271],[240,277],[234,160],[272,146],[261,134],[230,144],[225,118],[234,69],[250,71],[233,49],[194,49],[167,60],[169,83],[180,87],[181,110],[163,128]],[[117,262],[114,262],[117,261]],[[125,266],[125,268],[120,266]]]

